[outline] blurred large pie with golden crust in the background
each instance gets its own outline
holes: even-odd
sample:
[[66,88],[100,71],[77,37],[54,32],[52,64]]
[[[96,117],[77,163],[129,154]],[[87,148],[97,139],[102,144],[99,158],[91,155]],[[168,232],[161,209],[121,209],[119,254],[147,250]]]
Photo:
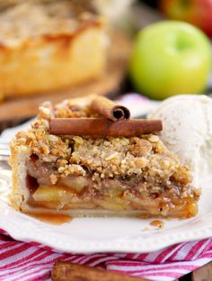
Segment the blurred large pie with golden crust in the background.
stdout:
[[4,97],[38,95],[101,76],[107,59],[104,24],[96,14],[81,12],[72,1],[30,1],[0,14]]

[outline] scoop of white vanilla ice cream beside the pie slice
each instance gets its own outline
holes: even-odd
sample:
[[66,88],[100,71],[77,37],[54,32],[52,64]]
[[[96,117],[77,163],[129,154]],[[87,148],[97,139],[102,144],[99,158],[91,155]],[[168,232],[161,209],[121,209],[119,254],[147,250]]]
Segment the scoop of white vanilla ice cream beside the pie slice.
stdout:
[[193,184],[212,175],[212,99],[176,95],[161,103],[149,118],[161,119],[161,138],[193,172]]

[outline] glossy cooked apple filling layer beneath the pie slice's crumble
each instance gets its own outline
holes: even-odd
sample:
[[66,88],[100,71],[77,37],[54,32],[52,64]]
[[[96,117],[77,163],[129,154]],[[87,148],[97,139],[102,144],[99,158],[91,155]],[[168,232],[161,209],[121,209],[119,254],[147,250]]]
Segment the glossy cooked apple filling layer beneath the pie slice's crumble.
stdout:
[[40,160],[28,162],[28,204],[55,210],[87,209],[108,211],[137,210],[148,215],[190,217],[198,212],[198,191],[188,191],[171,180],[157,184],[139,177],[113,177],[93,181],[93,175],[67,176],[52,185],[53,165]]

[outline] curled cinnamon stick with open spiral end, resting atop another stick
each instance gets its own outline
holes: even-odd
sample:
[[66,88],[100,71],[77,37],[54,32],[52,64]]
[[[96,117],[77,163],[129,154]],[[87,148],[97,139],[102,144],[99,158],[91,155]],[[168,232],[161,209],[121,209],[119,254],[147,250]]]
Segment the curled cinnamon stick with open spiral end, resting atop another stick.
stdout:
[[130,117],[127,107],[115,104],[104,96],[96,96],[93,99],[92,108],[94,111],[100,113],[103,117],[111,121],[129,119]]

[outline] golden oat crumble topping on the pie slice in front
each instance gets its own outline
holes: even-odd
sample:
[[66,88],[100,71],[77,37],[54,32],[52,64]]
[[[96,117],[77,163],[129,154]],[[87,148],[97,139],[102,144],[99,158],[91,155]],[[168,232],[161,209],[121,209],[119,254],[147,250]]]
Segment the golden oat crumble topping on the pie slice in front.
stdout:
[[[193,196],[190,168],[168,150],[155,134],[132,138],[91,138],[88,136],[55,136],[49,134],[52,117],[97,117],[89,105],[79,106],[66,100],[52,106],[40,106],[37,119],[29,131],[21,131],[12,142],[13,150],[25,148],[42,163],[52,164],[50,181],[67,176],[92,175],[93,182],[105,178],[140,177],[142,188],[152,192],[181,186],[182,195]],[[23,149],[24,150],[24,149]]]

